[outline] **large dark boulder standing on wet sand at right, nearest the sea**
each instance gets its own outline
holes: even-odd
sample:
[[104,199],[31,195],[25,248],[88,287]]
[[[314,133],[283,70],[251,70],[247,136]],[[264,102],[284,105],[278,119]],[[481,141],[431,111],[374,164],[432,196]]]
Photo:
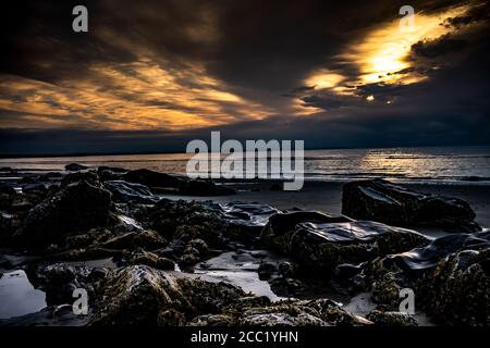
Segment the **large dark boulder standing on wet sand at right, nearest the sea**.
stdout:
[[383,179],[345,184],[342,213],[397,226],[437,226],[457,232],[476,232],[475,212],[458,198],[419,194]]

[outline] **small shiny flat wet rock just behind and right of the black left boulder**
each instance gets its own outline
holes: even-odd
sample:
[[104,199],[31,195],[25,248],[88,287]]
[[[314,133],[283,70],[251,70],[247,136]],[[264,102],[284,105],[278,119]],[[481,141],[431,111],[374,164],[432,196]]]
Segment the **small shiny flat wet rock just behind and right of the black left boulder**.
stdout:
[[159,200],[159,198],[151,194],[148,187],[140,184],[126,183],[123,181],[106,181],[103,186],[112,192],[117,202],[154,204]]

